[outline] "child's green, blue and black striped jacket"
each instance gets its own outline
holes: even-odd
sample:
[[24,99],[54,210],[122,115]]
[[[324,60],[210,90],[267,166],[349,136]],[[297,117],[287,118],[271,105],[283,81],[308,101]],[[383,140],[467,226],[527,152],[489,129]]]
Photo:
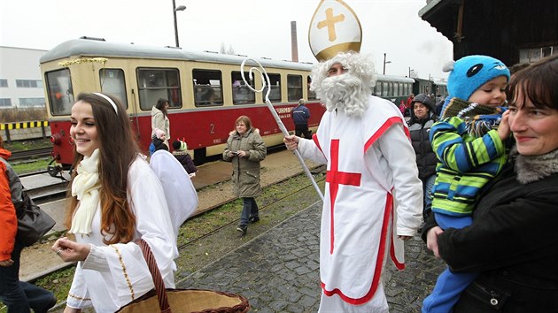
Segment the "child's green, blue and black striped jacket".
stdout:
[[461,118],[451,117],[430,128],[430,141],[438,157],[432,211],[470,216],[480,190],[500,173],[508,159],[498,131],[474,137]]

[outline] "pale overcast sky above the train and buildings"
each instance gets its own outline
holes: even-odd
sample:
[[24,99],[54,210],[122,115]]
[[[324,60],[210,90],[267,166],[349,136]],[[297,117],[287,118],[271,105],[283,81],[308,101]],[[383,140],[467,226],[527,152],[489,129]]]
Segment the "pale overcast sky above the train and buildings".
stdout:
[[[249,57],[291,59],[291,21],[297,22],[298,60],[315,62],[308,26],[319,0],[175,0],[180,45],[191,50],[232,47]],[[360,19],[361,53],[376,73],[446,78],[453,44],[418,16],[425,0],[345,0]],[[172,0],[1,0],[0,46],[50,50],[83,35],[108,42],[174,46]]]

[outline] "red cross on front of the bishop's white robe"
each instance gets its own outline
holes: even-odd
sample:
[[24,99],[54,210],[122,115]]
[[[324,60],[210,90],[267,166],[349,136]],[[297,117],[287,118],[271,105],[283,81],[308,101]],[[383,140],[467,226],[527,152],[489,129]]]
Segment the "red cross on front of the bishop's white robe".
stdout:
[[329,229],[329,254],[333,254],[333,248],[335,244],[335,223],[334,223],[334,212],[335,212],[335,201],[337,198],[337,191],[339,190],[339,185],[350,185],[350,186],[360,186],[360,173],[357,172],[339,172],[339,140],[332,139],[331,145],[329,147],[329,160],[330,166],[329,171],[326,172],[326,182],[329,183],[329,202],[331,204],[330,214],[330,229]]

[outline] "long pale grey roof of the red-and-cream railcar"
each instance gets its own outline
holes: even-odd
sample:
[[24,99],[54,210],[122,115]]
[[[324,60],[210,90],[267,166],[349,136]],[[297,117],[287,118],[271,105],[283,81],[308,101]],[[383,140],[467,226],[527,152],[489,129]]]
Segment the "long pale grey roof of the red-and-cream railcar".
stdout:
[[[155,47],[134,43],[105,42],[99,39],[80,38],[62,42],[49,50],[40,59],[40,63],[55,61],[65,57],[137,57],[176,59],[210,63],[226,63],[240,65],[245,56],[227,55],[210,51],[183,50],[174,47]],[[312,64],[290,61],[272,60],[263,57],[252,57],[264,67],[311,71]],[[246,61],[246,65],[256,65]]]

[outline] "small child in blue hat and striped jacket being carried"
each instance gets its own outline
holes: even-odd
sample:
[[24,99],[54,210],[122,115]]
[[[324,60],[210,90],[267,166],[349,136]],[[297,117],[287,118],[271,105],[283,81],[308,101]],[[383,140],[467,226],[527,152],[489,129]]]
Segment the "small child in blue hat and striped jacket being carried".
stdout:
[[[430,142],[438,157],[432,212],[442,229],[471,224],[480,190],[507,161],[505,141],[510,134],[508,126],[499,127],[506,111],[506,65],[493,57],[469,56],[446,66],[445,71],[451,71],[449,95],[442,118],[430,128]],[[443,271],[432,294],[424,299],[422,312],[451,312],[477,275]]]

